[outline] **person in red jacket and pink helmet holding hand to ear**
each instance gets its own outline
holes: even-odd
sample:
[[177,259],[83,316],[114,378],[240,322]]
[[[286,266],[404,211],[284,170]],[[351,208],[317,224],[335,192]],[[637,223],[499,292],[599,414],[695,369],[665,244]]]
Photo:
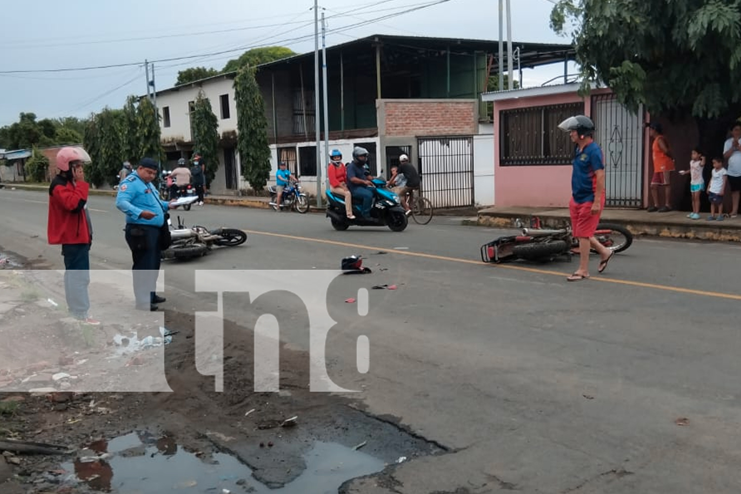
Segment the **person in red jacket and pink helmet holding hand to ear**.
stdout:
[[87,212],[90,184],[83,166],[90,156],[82,147],[62,147],[56,155],[59,173],[49,186],[49,221],[47,238],[51,245],[62,245],[64,256],[64,296],[70,314],[85,324],[97,326],[88,314],[90,298],[90,244],[93,224]]

